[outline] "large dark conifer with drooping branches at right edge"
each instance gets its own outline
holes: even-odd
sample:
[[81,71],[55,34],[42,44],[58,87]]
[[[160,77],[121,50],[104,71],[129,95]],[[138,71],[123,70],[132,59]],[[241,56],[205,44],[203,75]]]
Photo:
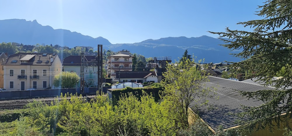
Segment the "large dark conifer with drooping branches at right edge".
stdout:
[[[256,13],[262,19],[238,23],[253,28],[253,31],[231,30],[227,27],[226,32],[211,32],[226,42],[223,46],[241,50],[234,56],[245,60],[233,63],[231,67],[250,71],[246,76],[258,77],[266,85],[274,84],[276,87],[273,90],[241,92],[244,96],[266,102],[257,107],[244,107],[247,112],[241,116],[251,120],[240,121],[245,124],[242,129],[264,129],[266,126],[274,126],[274,121],[279,125],[280,121],[288,124],[291,120],[292,89],[286,88],[292,83],[291,3],[291,0],[266,0],[263,6],[258,6],[260,10]],[[287,74],[278,80],[271,80],[279,71]]]

